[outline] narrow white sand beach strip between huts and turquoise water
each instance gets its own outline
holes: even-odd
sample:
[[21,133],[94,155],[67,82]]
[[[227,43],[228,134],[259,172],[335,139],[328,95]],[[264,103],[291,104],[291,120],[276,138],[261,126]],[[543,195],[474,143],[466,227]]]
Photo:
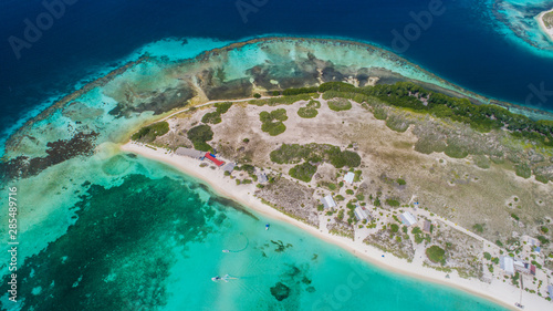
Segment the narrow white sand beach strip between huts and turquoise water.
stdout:
[[[396,258],[390,253],[385,253],[386,256],[383,258],[382,256],[384,255],[384,252],[382,250],[364,245],[358,240],[352,241],[347,238],[322,232],[322,230],[288,217],[284,214],[273,209],[272,207],[262,204],[261,200],[257,199],[253,196],[253,193],[255,190],[255,187],[253,185],[237,186],[234,180],[226,177],[220,169],[200,167],[200,160],[168,154],[165,149],[154,151],[146,146],[134,143],[122,145],[121,151],[139,154],[144,157],[163,162],[173,167],[176,167],[185,174],[202,180],[205,184],[215,189],[216,193],[225,197],[233,199],[244,205],[246,207],[251,208],[257,212],[270,218],[286,221],[288,224],[291,224],[310,232],[316,238],[323,239],[347,251],[351,251],[356,257],[362,258],[363,260],[372,265],[376,265],[379,268],[384,268],[388,271],[406,274],[425,281],[446,284],[455,289],[459,289],[493,301],[494,303],[501,304],[504,308],[509,308],[511,310],[520,310],[514,307],[514,303],[518,302],[520,298],[520,289],[517,289],[503,282],[502,280],[494,279],[491,283],[483,283],[477,279],[462,279],[455,271],[452,273],[449,273],[450,279],[446,279],[445,272],[440,272],[431,268],[426,268],[418,263],[407,262],[406,260]],[[528,292],[523,292],[522,304],[524,304],[525,307],[524,310],[536,311],[550,310],[553,307],[551,302],[547,302],[542,298],[536,298],[535,294],[531,294]]]

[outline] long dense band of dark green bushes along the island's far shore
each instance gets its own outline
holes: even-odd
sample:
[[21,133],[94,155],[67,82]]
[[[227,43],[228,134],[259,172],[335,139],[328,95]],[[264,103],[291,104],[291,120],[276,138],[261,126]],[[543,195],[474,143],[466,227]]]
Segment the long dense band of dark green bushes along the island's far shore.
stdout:
[[[306,95],[307,92],[313,93],[314,90],[314,87],[302,87],[284,92],[299,96]],[[529,138],[546,146],[553,146],[553,121],[532,121],[524,115],[514,114],[492,104],[474,105],[467,99],[432,92],[413,82],[363,87],[344,82],[326,82],[321,84],[317,91],[323,93],[325,100],[342,97],[375,105],[376,99],[392,106],[466,123],[480,132],[507,127],[514,137]],[[382,112],[377,114],[383,116]]]

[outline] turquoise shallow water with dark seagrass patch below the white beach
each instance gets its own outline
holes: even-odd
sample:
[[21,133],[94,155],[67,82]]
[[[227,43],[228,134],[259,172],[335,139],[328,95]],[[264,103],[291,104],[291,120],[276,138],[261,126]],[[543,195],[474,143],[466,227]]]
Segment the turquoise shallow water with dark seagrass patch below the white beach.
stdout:
[[3,310],[507,310],[372,266],[143,157],[91,167],[121,175],[82,183],[73,225],[24,261],[24,300],[4,296]]

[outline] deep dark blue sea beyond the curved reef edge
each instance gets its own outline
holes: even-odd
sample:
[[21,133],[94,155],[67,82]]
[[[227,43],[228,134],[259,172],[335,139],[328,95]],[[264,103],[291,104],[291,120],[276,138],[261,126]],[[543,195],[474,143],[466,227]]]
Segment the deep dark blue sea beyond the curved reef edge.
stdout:
[[[532,90],[553,90],[553,51],[517,38],[492,14],[490,0],[445,0],[441,6],[438,0],[62,1],[44,1],[63,3],[52,20],[44,17],[49,11],[41,0],[0,2],[0,141],[52,96],[168,37],[236,41],[292,34],[372,42],[471,91],[553,110],[551,94],[526,101]],[[553,6],[540,3],[532,9]],[[407,44],[394,41],[393,31],[404,33],[414,14],[429,11],[429,6],[439,10],[425,29],[411,32]],[[45,29],[28,33],[34,42],[25,40],[25,20],[34,25],[39,20]],[[15,44],[13,38],[27,43]]]

